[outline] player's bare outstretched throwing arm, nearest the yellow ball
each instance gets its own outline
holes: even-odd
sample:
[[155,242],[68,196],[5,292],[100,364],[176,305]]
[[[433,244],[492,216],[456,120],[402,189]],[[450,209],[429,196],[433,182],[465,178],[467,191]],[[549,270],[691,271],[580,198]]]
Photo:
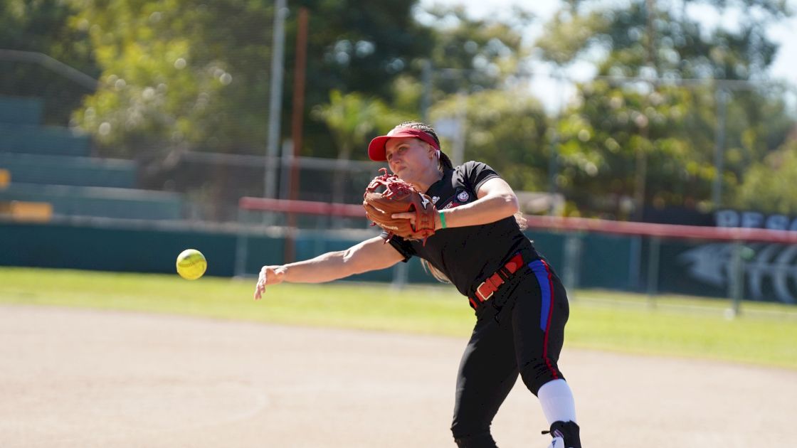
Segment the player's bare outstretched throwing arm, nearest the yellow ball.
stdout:
[[404,257],[382,237],[374,237],[351,246],[347,250],[328,252],[305,261],[287,265],[263,266],[254,290],[255,300],[260,299],[266,285],[289,283],[323,283],[364,273],[389,268]]

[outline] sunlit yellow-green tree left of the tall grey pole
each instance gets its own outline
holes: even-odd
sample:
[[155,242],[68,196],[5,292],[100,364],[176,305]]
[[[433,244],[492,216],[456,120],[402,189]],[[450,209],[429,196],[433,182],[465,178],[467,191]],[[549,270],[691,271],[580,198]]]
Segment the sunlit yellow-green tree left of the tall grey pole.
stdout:
[[[265,142],[270,10],[261,2],[73,0],[101,86],[75,113],[104,154],[252,151]],[[225,18],[219,20],[218,18]]]

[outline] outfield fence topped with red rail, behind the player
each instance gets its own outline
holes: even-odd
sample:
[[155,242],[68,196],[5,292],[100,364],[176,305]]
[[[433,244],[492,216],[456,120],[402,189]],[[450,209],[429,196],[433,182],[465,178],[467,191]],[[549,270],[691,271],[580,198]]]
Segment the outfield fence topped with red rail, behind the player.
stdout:
[[[326,202],[241,198],[236,269],[246,272],[247,226],[258,222],[304,226],[324,238],[329,222],[367,229],[359,205]],[[738,314],[743,300],[797,303],[797,232],[741,227],[678,226],[616,222],[588,218],[526,215],[526,234],[559,269],[571,291],[603,288],[645,292],[651,300],[661,293],[728,297]],[[301,225],[300,225],[301,223]],[[285,234],[285,262],[293,261],[292,234]],[[351,244],[357,241],[352,240]],[[404,264],[393,274],[395,285],[410,278]]]

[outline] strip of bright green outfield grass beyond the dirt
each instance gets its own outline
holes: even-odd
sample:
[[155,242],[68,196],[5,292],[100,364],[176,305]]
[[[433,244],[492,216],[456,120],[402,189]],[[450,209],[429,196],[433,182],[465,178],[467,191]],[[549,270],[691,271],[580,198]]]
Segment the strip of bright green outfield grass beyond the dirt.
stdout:
[[[277,285],[253,301],[254,279],[0,268],[0,304],[58,305],[359,328],[469,335],[473,311],[451,286]],[[688,356],[797,369],[797,306],[578,290],[567,346]]]

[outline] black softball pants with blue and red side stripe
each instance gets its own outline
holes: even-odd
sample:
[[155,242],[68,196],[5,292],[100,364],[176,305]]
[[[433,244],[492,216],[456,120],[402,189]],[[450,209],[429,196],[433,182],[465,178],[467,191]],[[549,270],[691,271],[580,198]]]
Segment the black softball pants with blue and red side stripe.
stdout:
[[562,282],[543,260],[528,263],[481,305],[457,375],[457,446],[496,446],[490,424],[518,375],[534,395],[564,378],[557,361],[569,314]]

